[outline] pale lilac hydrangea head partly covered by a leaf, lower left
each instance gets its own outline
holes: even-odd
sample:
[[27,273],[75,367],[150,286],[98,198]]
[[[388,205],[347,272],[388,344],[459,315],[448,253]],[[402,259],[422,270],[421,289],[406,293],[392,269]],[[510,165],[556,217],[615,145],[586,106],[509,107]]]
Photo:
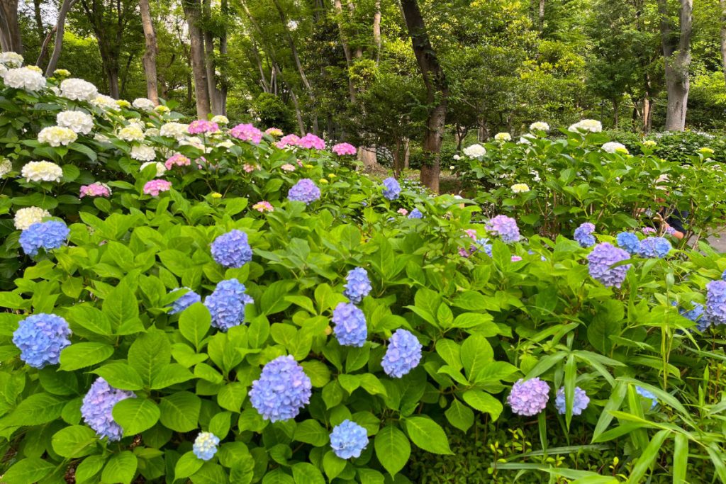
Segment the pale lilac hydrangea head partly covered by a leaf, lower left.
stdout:
[[91,389],[83,397],[81,415],[83,422],[96,431],[99,437],[107,437],[110,442],[121,440],[123,430],[113,419],[113,406],[126,398],[136,398],[134,392],[118,390],[98,377]]

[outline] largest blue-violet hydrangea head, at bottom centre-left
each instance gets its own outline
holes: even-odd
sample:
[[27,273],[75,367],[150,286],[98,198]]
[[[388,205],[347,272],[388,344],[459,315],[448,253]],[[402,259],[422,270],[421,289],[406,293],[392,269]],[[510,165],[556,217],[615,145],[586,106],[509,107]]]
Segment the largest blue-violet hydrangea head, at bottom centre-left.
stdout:
[[310,403],[312,385],[292,356],[278,356],[252,382],[250,402],[270,422],[294,419]]

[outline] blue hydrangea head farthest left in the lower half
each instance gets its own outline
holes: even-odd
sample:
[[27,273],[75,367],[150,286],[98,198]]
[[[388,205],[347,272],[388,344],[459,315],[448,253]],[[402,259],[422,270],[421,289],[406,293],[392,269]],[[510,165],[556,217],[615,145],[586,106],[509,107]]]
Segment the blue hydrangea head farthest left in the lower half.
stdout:
[[68,322],[55,314],[39,313],[20,321],[12,333],[12,343],[20,359],[33,368],[58,364],[60,352],[70,345]]

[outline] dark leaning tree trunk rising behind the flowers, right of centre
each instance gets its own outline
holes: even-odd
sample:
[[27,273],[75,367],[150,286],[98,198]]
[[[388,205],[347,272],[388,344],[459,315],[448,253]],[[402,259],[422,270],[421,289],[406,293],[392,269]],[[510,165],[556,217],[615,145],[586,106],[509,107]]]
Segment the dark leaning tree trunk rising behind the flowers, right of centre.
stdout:
[[429,106],[422,144],[421,183],[434,192],[439,192],[441,142],[444,139],[449,86],[428,38],[417,0],[401,0],[401,7],[411,36],[413,52],[426,86],[426,100]]

